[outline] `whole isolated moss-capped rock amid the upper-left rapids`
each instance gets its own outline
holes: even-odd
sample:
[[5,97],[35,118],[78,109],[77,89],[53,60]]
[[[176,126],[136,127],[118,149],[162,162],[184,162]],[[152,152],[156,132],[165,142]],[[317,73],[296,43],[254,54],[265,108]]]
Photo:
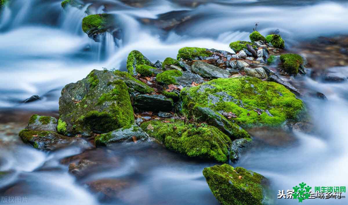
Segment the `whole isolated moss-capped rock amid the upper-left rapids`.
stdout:
[[93,14],[82,19],[82,31],[96,42],[100,42],[100,35],[114,25],[114,17],[111,14]]

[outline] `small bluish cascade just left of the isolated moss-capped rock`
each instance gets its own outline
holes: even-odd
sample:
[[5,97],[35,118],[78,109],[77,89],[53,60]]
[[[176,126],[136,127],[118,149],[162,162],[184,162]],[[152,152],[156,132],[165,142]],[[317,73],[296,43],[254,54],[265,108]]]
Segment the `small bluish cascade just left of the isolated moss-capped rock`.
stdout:
[[83,8],[78,9],[68,5],[65,9],[62,8],[61,27],[72,34],[82,35],[82,19],[87,16],[86,9],[91,5],[88,3]]

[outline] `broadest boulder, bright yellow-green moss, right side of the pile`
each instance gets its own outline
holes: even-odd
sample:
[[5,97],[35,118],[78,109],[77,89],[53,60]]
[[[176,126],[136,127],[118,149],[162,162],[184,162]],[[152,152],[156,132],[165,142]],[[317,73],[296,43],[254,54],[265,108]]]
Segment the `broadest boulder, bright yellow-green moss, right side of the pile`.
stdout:
[[254,77],[219,78],[180,94],[184,108],[198,103],[217,112],[232,112],[240,126],[280,126],[298,120],[305,106],[283,85]]

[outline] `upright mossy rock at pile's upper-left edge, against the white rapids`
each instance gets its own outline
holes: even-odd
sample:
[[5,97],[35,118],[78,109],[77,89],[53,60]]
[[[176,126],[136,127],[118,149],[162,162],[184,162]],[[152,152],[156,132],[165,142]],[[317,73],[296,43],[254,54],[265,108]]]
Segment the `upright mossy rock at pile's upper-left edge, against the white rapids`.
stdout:
[[140,51],[133,50],[128,54],[127,57],[127,70],[131,75],[137,75],[136,66],[147,65],[154,67],[153,63],[147,59]]

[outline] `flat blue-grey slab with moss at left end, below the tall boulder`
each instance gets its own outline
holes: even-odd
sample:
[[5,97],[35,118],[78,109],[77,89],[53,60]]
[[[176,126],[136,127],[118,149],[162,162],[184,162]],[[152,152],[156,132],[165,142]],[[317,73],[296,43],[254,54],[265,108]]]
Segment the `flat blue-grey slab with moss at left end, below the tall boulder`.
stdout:
[[149,140],[149,136],[139,126],[134,124],[97,136],[95,145],[107,146],[112,143],[139,143]]

